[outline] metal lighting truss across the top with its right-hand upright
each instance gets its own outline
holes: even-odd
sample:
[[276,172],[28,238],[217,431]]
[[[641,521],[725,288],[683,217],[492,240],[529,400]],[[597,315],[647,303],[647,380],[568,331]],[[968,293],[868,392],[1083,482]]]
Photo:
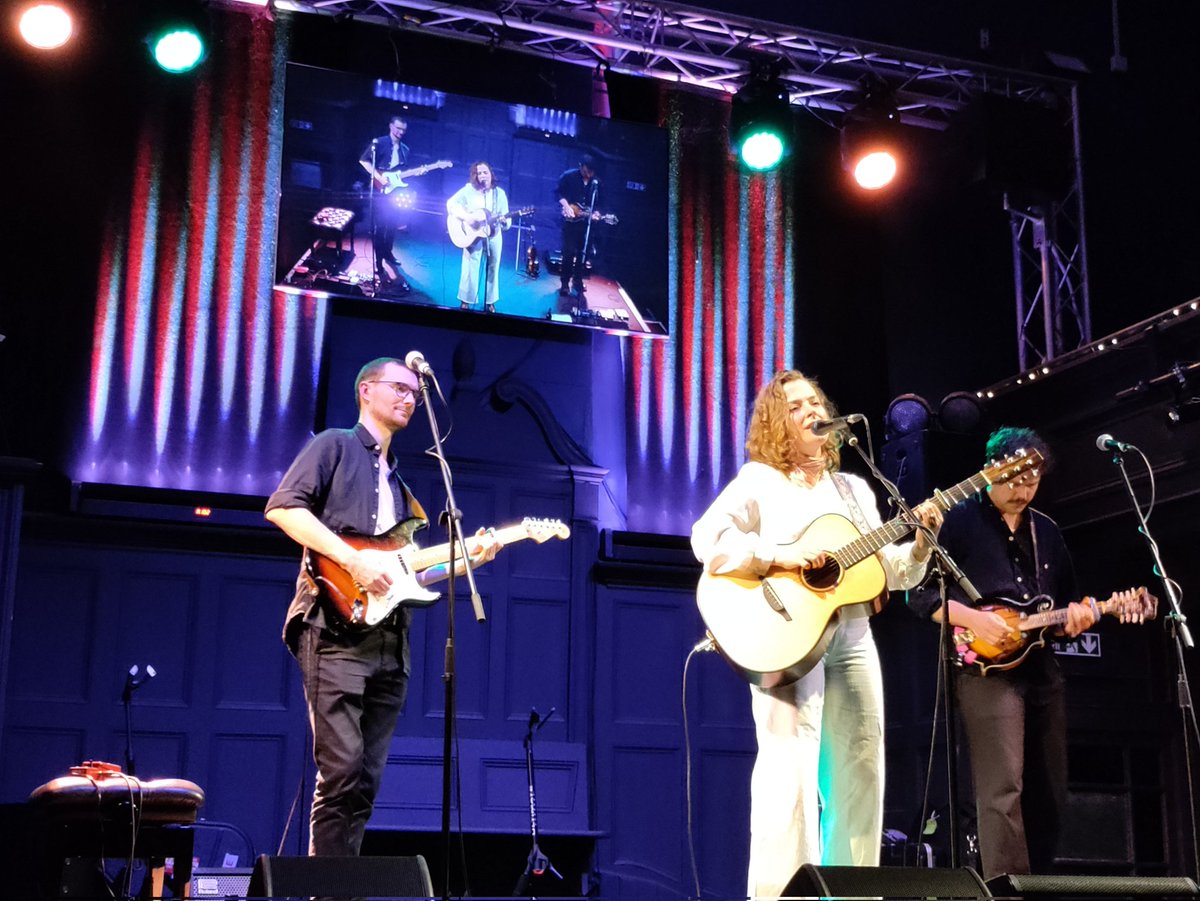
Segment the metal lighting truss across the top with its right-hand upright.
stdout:
[[1013,227],[1018,360],[1022,370],[1042,367],[1091,341],[1079,97],[1070,80],[673,4],[271,1],[276,10],[350,17],[724,94],[742,88],[752,62],[773,60],[792,104],[811,110],[850,113],[862,101],[864,84],[882,80],[901,121],[917,127],[944,130],[985,94],[1060,109],[1074,149],[1067,196],[1036,208],[1006,204]]

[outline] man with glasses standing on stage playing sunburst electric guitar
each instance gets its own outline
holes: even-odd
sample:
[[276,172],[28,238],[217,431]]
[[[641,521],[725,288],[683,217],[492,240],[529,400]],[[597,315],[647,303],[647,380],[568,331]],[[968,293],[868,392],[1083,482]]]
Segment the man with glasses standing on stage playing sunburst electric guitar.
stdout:
[[[426,518],[396,470],[391,448],[420,396],[416,376],[394,358],[364,366],[354,392],[358,424],[325,430],[305,445],[268,500],[266,518],[346,570],[361,590],[384,595],[395,555],[356,549],[341,535],[380,535],[409,517]],[[482,530],[468,547],[473,566],[499,549]],[[432,566],[416,573],[416,581],[425,585],[446,578],[448,569]],[[460,563],[456,575],[464,569]],[[304,674],[313,733],[310,854],[359,853],[408,689],[410,620],[410,608],[400,606],[370,629],[350,629],[326,608],[300,567],[283,641]]]

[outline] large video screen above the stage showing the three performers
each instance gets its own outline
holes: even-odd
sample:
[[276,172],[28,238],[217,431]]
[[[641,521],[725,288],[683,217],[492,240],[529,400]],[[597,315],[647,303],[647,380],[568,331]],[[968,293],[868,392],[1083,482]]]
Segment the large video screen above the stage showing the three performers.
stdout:
[[667,334],[662,128],[289,65],[276,283]]

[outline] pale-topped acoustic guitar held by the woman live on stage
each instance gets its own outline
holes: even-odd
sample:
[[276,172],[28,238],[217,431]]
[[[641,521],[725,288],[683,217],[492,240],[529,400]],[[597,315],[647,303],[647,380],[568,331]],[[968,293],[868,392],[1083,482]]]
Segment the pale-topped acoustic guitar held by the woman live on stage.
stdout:
[[[1019,477],[1042,464],[1037,450],[1019,450],[929,503],[949,510],[989,485]],[[804,539],[826,551],[821,566],[803,570],[773,566],[766,576],[706,572],[696,588],[700,615],[718,650],[748,681],[770,687],[796,681],[824,654],[844,608],[870,615],[883,607],[887,573],[880,548],[899,541],[916,525],[896,517],[865,535],[844,516],[814,519]]]

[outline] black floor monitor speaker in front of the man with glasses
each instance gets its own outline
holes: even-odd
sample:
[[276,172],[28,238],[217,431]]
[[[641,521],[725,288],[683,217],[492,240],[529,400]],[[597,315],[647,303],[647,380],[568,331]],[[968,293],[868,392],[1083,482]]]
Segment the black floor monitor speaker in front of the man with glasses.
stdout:
[[254,863],[247,897],[433,897],[425,858],[268,857]]

